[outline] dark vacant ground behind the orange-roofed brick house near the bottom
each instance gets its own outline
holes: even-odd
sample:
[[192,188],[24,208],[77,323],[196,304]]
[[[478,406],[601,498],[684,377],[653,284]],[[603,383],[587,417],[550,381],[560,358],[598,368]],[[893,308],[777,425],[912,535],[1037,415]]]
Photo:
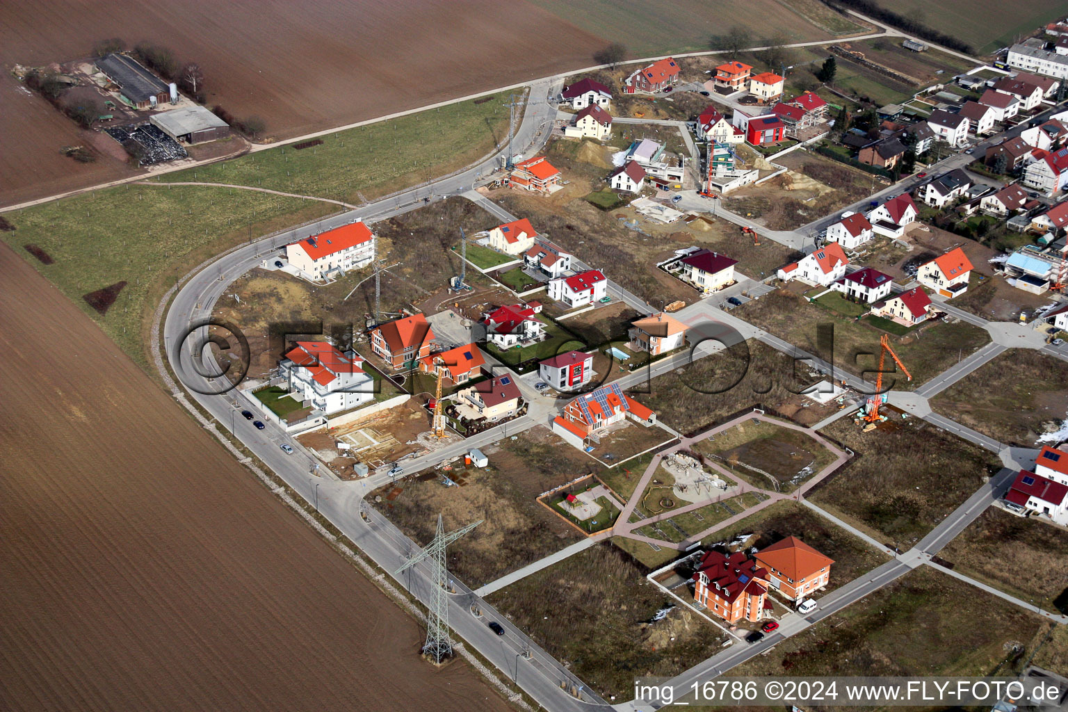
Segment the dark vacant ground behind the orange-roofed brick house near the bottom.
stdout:
[[728,527],[706,537],[705,547],[729,541],[738,535],[752,534],[745,547],[757,551],[786,537],[797,537],[816,551],[834,559],[828,590],[844,586],[886,560],[886,556],[859,537],[839,528],[812,509],[788,500],[775,502]]

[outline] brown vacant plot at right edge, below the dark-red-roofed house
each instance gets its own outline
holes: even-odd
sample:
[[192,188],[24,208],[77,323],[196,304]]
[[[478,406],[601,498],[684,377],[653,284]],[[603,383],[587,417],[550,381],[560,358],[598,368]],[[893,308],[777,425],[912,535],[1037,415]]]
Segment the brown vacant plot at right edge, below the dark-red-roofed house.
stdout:
[[1068,613],[1068,532],[1058,526],[989,507],[939,556],[1022,601]]

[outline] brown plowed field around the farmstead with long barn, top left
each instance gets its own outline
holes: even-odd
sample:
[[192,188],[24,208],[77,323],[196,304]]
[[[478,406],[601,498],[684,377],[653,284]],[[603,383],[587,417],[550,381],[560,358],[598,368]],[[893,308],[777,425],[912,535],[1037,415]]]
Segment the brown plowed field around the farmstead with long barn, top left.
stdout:
[[[179,61],[198,62],[209,105],[238,117],[258,114],[277,138],[588,66],[608,43],[525,0],[0,3],[4,73],[16,63],[88,57],[96,41],[116,35],[130,47],[146,39]],[[28,127],[65,122],[66,129],[53,130],[77,133],[73,122],[37,98],[28,123],[15,114],[31,109],[11,110],[15,96],[6,83],[0,95],[5,204],[125,173],[103,156],[90,168],[57,161],[59,147],[70,141],[36,130],[27,136]]]

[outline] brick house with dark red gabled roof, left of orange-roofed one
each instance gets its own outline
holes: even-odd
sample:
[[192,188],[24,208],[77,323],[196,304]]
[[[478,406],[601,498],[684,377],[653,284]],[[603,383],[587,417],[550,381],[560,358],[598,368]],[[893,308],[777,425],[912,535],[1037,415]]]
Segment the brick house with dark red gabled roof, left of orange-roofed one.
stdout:
[[768,570],[737,552],[729,556],[710,551],[693,573],[693,600],[728,623],[757,622],[771,610]]

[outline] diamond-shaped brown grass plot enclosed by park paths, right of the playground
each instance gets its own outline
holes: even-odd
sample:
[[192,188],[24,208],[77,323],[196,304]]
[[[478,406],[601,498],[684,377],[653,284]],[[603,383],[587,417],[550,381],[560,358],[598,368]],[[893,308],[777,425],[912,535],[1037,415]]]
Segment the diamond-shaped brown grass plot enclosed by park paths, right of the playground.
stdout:
[[834,455],[800,430],[764,421],[740,423],[694,445],[747,482],[792,492],[834,461]]

